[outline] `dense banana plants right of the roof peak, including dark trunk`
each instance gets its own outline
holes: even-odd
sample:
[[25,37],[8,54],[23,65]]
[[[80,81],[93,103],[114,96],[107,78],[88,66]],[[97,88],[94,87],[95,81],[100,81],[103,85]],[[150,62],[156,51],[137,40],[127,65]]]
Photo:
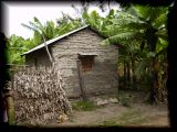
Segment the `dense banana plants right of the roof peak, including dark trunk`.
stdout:
[[[118,44],[122,47],[121,59],[128,68],[129,64],[126,62],[132,62],[133,73],[136,75],[144,75],[140,72],[145,72],[146,75],[148,73],[152,103],[155,102],[159,89],[156,65],[159,55],[165,56],[168,45],[167,9],[132,4],[116,14],[110,11],[106,18],[101,18],[96,12],[92,12],[91,15],[84,14],[91,28],[106,37],[104,44]],[[138,70],[142,68],[144,70]],[[125,70],[125,73],[129,72]]]

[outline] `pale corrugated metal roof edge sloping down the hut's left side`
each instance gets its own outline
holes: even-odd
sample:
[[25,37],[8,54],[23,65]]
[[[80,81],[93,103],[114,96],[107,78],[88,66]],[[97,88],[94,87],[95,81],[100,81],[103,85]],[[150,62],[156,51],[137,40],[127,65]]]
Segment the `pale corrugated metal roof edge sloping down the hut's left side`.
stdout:
[[[80,29],[73,30],[73,31],[71,31],[71,32],[69,32],[69,33],[66,33],[66,34],[60,35],[60,36],[58,36],[58,37],[55,37],[55,38],[52,38],[52,40],[49,40],[49,41],[46,41],[45,43],[46,43],[46,45],[50,45],[50,44],[52,44],[53,42],[59,41],[59,40],[61,40],[61,38],[63,38],[63,37],[65,37],[65,36],[69,36],[69,35],[73,34],[73,33],[75,33],[75,32],[77,32],[77,31],[81,31],[81,30],[87,28],[87,26],[90,26],[90,25],[85,25],[85,26],[82,26],[82,28],[80,28]],[[32,50],[30,50],[30,51],[28,51],[28,52],[25,52],[25,53],[23,53],[23,54],[21,54],[21,55],[27,55],[27,54],[32,53],[32,52],[34,52],[34,51],[37,51],[37,50],[40,50],[40,48],[42,48],[42,47],[44,47],[44,46],[45,46],[44,43],[42,43],[42,44],[35,46],[34,48],[32,48]]]

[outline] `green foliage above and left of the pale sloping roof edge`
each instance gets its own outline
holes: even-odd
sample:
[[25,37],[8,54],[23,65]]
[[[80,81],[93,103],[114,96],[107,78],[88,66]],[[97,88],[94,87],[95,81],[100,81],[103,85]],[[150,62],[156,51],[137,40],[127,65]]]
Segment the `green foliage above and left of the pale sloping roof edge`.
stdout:
[[43,37],[48,41],[56,36],[63,35],[72,30],[81,28],[83,23],[79,19],[72,19],[69,14],[63,13],[62,18],[58,20],[58,24],[53,21],[46,21],[45,24],[38,18],[29,21],[29,24],[21,24],[22,26],[33,31],[33,37],[24,40],[21,36],[11,35],[8,38],[8,63],[9,64],[24,64],[24,57],[20,56],[24,52],[43,43]]

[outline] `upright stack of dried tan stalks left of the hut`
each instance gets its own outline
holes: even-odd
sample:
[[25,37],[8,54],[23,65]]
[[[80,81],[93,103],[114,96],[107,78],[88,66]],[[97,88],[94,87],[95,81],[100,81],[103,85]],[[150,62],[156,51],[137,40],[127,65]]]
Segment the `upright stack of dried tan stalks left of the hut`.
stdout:
[[22,68],[13,75],[17,123],[46,124],[71,113],[71,105],[54,68]]

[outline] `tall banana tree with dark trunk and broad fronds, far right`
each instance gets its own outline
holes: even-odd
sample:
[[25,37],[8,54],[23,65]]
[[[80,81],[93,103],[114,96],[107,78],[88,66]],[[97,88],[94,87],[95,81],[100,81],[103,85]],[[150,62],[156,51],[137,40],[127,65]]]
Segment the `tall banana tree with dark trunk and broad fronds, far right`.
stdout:
[[[167,42],[166,18],[167,8],[165,7],[143,7],[132,6],[124,12],[118,13],[118,18],[113,19],[113,24],[107,25],[105,33],[111,35],[106,43],[124,43],[131,40],[136,40],[142,50],[147,48],[149,56],[149,81],[150,81],[150,96],[149,101],[155,102],[158,89],[158,72],[156,70],[157,46],[160,45],[162,50],[166,46],[162,46],[162,41]],[[111,34],[113,33],[113,34]]]

